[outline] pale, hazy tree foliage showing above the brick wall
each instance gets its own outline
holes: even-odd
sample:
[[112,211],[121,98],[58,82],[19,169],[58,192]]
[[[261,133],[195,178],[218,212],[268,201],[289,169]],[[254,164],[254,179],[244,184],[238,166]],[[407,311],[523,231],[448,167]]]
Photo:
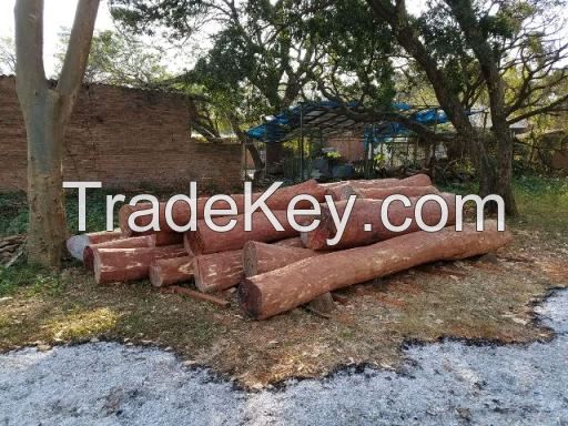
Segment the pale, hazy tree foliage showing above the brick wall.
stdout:
[[[69,31],[61,34],[61,44],[69,44]],[[63,65],[64,51],[57,53],[57,70]],[[150,47],[132,37],[111,30],[93,36],[84,82],[126,85],[133,88],[151,87],[171,78],[162,64],[163,51]]]

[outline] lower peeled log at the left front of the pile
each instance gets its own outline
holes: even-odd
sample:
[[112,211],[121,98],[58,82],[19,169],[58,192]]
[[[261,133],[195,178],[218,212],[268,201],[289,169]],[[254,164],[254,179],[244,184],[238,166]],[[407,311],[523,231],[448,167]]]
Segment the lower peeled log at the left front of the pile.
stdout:
[[186,255],[182,245],[97,250],[93,262],[94,281],[97,284],[105,284],[142,280],[148,277],[153,261]]

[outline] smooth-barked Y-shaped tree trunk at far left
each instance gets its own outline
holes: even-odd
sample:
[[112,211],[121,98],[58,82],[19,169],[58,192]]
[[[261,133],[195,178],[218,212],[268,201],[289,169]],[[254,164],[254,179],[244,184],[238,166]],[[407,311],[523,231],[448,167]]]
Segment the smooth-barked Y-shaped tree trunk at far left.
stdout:
[[67,236],[62,154],[83,79],[99,0],[79,0],[69,48],[53,87],[43,69],[43,1],[16,2],[16,83],[28,138],[28,261],[59,267]]

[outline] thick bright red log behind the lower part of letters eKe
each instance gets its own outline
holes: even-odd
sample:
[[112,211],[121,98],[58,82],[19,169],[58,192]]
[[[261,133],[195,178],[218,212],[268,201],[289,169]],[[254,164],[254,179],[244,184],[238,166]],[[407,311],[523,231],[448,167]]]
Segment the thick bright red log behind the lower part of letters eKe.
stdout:
[[[187,247],[187,252],[197,255],[239,250],[242,248],[247,241],[262,241],[267,243],[300,235],[300,232],[294,230],[288,223],[285,211],[273,211],[272,213],[281,223],[284,231],[276,231],[262,212],[253,213],[251,231],[244,230],[244,215],[225,216],[219,217],[214,222],[217,225],[224,225],[229,220],[235,219],[237,221],[236,225],[231,231],[216,232],[210,230],[204,220],[197,221],[197,230],[190,231],[185,234],[184,245]],[[312,221],[313,217],[308,220]],[[302,219],[297,216],[296,221],[301,223]]]

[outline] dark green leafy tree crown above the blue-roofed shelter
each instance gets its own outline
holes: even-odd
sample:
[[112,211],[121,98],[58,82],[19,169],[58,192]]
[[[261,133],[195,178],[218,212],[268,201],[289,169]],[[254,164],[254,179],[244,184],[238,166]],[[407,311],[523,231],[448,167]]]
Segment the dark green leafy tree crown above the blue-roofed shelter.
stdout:
[[[302,0],[112,3],[113,16],[134,31],[153,32],[160,26],[183,38],[191,37],[200,21],[219,24],[212,48],[178,81],[210,99],[213,115],[230,122],[243,143],[243,125],[286,110],[298,100],[320,97],[316,83],[335,97],[390,102],[392,69],[383,48],[389,40],[371,31],[377,26],[358,0],[337,2],[337,7]],[[358,30],[362,27],[365,31]],[[311,84],[313,90],[307,93]],[[204,114],[197,126],[215,140],[210,116]],[[253,145],[247,148],[256,169],[262,170],[258,153]],[[280,148],[270,144],[267,150]]]

